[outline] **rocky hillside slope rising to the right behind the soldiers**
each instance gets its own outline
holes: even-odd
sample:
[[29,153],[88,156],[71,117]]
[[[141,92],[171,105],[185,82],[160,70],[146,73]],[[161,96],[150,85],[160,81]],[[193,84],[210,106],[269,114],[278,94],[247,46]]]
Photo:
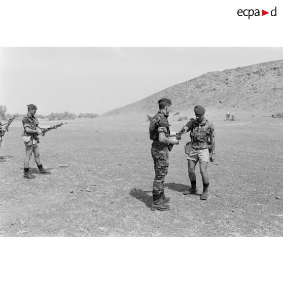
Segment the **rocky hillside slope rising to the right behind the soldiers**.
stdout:
[[172,99],[171,112],[187,111],[196,104],[210,111],[282,111],[283,60],[209,72],[101,116],[153,114],[161,97]]

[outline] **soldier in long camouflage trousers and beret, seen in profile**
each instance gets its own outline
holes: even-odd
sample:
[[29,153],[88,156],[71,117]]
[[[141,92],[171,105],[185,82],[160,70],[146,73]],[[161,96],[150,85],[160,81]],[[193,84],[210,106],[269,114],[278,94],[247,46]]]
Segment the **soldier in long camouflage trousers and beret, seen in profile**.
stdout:
[[[178,144],[174,137],[176,133],[170,132],[168,123],[168,114],[170,112],[171,100],[161,98],[158,100],[159,111],[153,116],[150,122],[150,139],[153,140],[151,155],[154,162],[155,178],[153,182],[153,203],[152,210],[169,210],[170,206],[166,203],[170,201],[169,197],[164,195],[165,176],[168,173],[169,149],[168,145]],[[171,138],[170,138],[171,137]]]

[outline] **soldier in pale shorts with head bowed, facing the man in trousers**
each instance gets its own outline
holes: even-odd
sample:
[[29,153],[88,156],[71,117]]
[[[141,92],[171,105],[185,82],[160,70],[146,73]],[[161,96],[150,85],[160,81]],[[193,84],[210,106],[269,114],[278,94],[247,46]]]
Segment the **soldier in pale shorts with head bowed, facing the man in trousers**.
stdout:
[[[189,179],[191,181],[191,192],[185,191],[184,194],[196,193],[196,174],[195,167],[199,161],[199,169],[202,178],[203,191],[200,199],[206,200],[208,198],[208,174],[207,164],[210,159],[211,162],[215,161],[215,129],[211,122],[208,122],[204,118],[205,108],[201,105],[197,105],[194,108],[196,120],[192,127],[189,129],[186,127],[187,132],[190,132],[191,136],[191,150],[188,156],[188,171]],[[211,146],[212,153],[209,157],[208,146]]]

